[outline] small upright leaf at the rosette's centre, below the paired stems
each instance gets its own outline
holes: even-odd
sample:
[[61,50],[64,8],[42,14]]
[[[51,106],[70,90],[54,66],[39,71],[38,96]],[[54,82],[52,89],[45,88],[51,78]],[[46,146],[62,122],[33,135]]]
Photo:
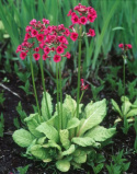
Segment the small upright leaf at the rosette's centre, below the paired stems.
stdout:
[[68,149],[70,147],[70,140],[69,140],[69,131],[67,129],[59,131],[60,136],[60,142],[65,149]]

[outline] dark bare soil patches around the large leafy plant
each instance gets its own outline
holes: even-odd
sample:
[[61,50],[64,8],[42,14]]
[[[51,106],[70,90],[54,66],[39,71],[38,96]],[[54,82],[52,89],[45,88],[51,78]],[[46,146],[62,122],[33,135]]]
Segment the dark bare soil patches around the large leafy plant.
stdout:
[[[117,65],[116,62],[113,62]],[[102,70],[100,70],[100,74],[102,77]],[[119,73],[119,76],[122,76]],[[35,98],[33,95],[26,96],[25,93],[19,89],[19,85],[21,85],[21,81],[19,81],[18,77],[12,73],[7,73],[8,79],[10,80],[9,83],[5,83],[5,86],[8,86],[12,92],[15,92],[19,94],[20,97],[14,95],[13,93],[9,92],[8,90],[0,86],[0,92],[4,91],[4,97],[5,102],[3,107],[0,106],[0,113],[3,113],[4,116],[4,136],[3,138],[0,138],[0,174],[10,174],[14,173],[18,174],[16,167],[19,166],[25,166],[30,164],[28,174],[54,174],[54,165],[47,165],[44,167],[44,165],[41,162],[32,161],[22,156],[22,153],[24,152],[24,149],[18,147],[13,140],[12,140],[12,132],[16,129],[13,125],[13,118],[19,117],[19,114],[15,109],[18,106],[18,103],[21,101],[23,109],[31,114],[33,113],[32,104],[35,104]],[[0,72],[0,81],[4,78],[4,74]],[[130,78],[130,77],[129,77]],[[39,101],[42,97],[42,88],[39,86],[39,80],[37,80],[37,88],[38,89],[38,96]],[[94,82],[94,79],[90,79],[90,81]],[[76,85],[76,78],[72,77],[72,83],[71,86]],[[95,82],[94,82],[95,83]],[[98,85],[98,84],[96,84]],[[53,85],[54,88],[54,85]],[[68,89],[68,88],[66,88]],[[100,97],[106,97],[109,101],[113,97],[118,102],[118,97],[115,94],[115,92],[111,92],[106,94],[106,89],[103,92],[101,92]],[[70,91],[70,90],[69,90]],[[84,97],[82,100],[82,103],[89,102],[89,100],[92,98],[91,91],[87,91],[84,94]],[[105,127],[112,127],[114,125],[114,120],[116,118],[116,114],[111,109],[111,104],[109,104],[109,114],[106,118],[103,121],[103,125]],[[121,150],[124,150],[125,155],[124,158],[127,159],[127,161],[130,162],[130,167],[127,171],[127,174],[136,174],[137,172],[137,154],[134,153],[134,141],[135,141],[135,131],[132,127],[127,135],[124,135],[122,129],[122,125],[117,125],[117,134],[113,137],[113,143],[107,144],[103,148],[103,153],[106,158],[106,163],[111,163],[111,155],[117,154]],[[92,169],[89,166],[83,165],[83,170],[73,171],[70,170],[67,174],[87,174],[87,172],[90,171],[90,174],[93,174]],[[59,174],[59,173],[58,173]],[[106,170],[104,169],[101,174],[107,174]]]

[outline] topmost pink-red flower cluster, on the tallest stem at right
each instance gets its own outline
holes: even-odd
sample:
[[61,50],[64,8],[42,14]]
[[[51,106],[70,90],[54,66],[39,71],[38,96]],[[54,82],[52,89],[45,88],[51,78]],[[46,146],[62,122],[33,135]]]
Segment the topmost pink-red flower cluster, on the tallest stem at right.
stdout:
[[[92,7],[85,7],[82,5],[81,3],[76,5],[73,10],[78,12],[78,15],[76,12],[72,12],[72,10],[70,10],[67,14],[68,16],[71,16],[72,25],[70,26],[70,28],[72,30],[75,24],[85,25],[89,22],[93,23],[98,16],[96,11]],[[89,32],[87,33],[87,36],[91,37],[95,36],[94,30],[90,28]],[[71,33],[70,38],[72,40],[76,40],[78,38],[78,33],[76,32]]]

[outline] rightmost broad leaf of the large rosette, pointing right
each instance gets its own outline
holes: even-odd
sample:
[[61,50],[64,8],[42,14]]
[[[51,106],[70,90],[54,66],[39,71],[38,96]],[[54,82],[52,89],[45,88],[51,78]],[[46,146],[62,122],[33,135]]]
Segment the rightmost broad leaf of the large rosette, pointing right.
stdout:
[[115,128],[106,129],[103,126],[96,126],[89,130],[84,137],[90,137],[94,141],[105,141],[106,139],[111,138],[116,131]]

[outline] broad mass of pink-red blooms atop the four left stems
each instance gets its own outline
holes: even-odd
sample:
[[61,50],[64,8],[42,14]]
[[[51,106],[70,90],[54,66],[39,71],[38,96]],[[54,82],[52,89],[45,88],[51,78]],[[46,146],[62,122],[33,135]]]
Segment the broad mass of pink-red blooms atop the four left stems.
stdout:
[[38,60],[42,57],[46,60],[49,53],[54,53],[54,61],[59,62],[61,57],[70,58],[70,53],[65,54],[65,49],[68,45],[67,37],[70,35],[68,28],[60,24],[58,26],[49,25],[49,21],[43,19],[43,22],[33,19],[30,25],[25,28],[26,34],[24,40],[18,46],[16,53],[21,53],[20,57],[22,60],[25,59],[27,53],[33,49],[33,57]]

